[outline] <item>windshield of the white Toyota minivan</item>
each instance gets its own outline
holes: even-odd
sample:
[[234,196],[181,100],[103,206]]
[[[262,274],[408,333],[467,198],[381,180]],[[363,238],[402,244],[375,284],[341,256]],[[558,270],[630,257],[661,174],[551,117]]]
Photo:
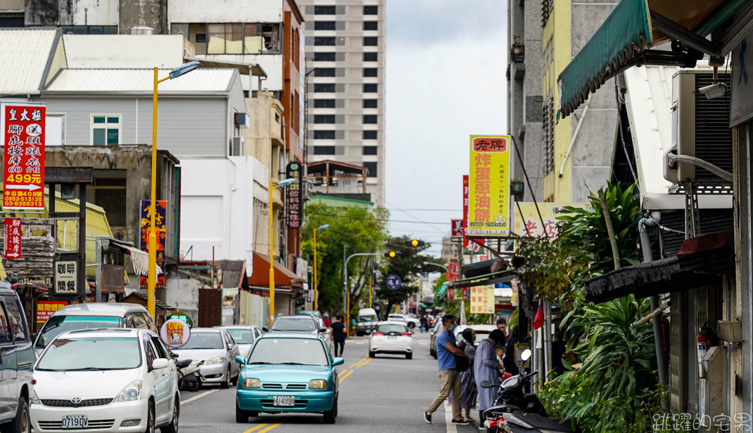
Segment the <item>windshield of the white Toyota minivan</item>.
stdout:
[[127,370],[141,365],[136,338],[62,338],[54,340],[37,370]]

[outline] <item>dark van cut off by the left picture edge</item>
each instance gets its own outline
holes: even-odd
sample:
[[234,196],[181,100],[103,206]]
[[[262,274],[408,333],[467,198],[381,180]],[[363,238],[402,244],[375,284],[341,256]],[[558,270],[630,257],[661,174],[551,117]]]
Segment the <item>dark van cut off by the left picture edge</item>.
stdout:
[[0,428],[12,433],[31,431],[34,349],[18,294],[0,281]]

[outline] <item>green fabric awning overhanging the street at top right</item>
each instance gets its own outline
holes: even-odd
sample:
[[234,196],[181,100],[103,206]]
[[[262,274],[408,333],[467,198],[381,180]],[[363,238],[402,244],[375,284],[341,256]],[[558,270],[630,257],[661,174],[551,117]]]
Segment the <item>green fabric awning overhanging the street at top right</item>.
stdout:
[[569,116],[589,93],[630,66],[683,66],[687,59],[681,53],[648,48],[675,40],[678,33],[687,36],[684,43],[711,46],[703,38],[749,1],[622,0],[559,74],[558,118]]

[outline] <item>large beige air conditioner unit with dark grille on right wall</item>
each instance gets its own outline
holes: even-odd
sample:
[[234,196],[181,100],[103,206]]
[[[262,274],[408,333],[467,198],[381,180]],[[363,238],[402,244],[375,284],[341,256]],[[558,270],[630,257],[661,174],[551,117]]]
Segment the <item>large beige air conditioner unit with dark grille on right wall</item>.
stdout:
[[[730,74],[719,73],[718,81],[730,86]],[[669,153],[697,157],[732,171],[730,99],[708,99],[698,91],[714,83],[711,69],[684,69],[672,77],[672,143],[665,153],[664,178],[678,181],[719,181],[719,177],[687,162],[666,163]]]

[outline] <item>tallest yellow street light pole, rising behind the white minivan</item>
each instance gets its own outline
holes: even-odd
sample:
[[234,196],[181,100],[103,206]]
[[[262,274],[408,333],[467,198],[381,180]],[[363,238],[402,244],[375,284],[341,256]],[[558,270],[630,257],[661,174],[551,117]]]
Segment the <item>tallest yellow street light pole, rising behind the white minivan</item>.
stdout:
[[151,96],[151,204],[149,205],[149,238],[147,249],[149,252],[149,271],[147,273],[147,310],[149,315],[157,322],[157,316],[154,314],[154,306],[157,303],[154,296],[154,289],[157,285],[157,229],[154,227],[155,215],[155,196],[157,196],[157,84],[172,78],[178,78],[199,67],[199,62],[184,63],[178,68],[170,71],[165,78],[157,76],[159,69],[154,68],[154,90]]

